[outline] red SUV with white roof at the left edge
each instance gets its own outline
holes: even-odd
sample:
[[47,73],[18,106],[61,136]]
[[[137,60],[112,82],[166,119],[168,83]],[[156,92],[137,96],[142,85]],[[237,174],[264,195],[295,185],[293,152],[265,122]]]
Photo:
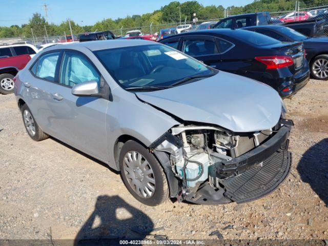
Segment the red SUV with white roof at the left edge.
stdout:
[[33,45],[0,46],[0,93],[9,94],[14,90],[14,76],[22,70],[37,53]]

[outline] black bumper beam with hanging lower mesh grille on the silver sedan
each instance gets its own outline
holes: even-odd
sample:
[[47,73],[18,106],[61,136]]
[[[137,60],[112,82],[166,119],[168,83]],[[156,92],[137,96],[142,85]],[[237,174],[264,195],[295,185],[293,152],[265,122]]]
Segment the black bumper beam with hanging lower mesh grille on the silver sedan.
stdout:
[[288,176],[292,162],[288,137],[293,122],[282,119],[280,123],[283,126],[264,144],[217,166],[216,174],[222,188],[214,189],[204,183],[186,200],[198,204],[241,203],[261,198],[277,189]]

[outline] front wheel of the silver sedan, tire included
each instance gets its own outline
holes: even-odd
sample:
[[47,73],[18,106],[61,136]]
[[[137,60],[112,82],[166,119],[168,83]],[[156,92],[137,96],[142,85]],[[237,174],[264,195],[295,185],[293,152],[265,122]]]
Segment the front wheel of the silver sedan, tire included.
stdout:
[[156,206],[169,198],[168,181],[162,167],[138,142],[129,140],[124,144],[119,166],[125,186],[140,202]]

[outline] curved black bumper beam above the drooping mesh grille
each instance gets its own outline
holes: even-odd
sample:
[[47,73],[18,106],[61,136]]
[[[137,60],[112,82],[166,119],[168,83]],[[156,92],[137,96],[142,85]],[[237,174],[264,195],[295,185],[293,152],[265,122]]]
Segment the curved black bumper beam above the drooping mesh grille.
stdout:
[[223,161],[222,166],[217,170],[218,176],[224,178],[239,175],[269,158],[280,148],[288,149],[288,137],[293,123],[288,121],[288,124],[282,126],[272,138],[254,150]]

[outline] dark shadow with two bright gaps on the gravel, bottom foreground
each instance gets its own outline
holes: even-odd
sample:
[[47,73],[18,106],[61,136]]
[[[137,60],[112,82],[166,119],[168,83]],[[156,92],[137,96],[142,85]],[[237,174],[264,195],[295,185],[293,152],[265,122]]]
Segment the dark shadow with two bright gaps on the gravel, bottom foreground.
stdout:
[[119,196],[98,196],[93,213],[75,237],[74,246],[122,245],[126,243],[120,240],[142,240],[153,229],[150,217]]

